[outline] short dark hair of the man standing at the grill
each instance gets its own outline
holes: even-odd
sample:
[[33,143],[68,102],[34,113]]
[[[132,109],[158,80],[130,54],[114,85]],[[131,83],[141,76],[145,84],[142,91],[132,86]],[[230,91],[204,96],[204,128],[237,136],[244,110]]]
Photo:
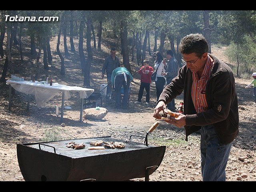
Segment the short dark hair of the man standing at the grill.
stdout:
[[189,34],[185,36],[179,45],[179,51],[182,54],[196,53],[200,57],[208,52],[208,43],[202,34]]

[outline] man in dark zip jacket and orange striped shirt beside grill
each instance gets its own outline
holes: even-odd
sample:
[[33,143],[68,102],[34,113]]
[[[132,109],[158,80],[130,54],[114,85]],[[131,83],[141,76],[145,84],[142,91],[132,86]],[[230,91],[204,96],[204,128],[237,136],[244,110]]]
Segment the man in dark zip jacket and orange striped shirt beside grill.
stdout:
[[203,181],[226,180],[225,168],[234,138],[238,135],[238,99],[234,74],[227,64],[208,53],[201,34],[184,37],[179,46],[182,60],[178,76],[159,97],[153,116],[168,113],[166,104],[184,91],[184,114],[167,121],[188,135],[201,131],[200,152]]

